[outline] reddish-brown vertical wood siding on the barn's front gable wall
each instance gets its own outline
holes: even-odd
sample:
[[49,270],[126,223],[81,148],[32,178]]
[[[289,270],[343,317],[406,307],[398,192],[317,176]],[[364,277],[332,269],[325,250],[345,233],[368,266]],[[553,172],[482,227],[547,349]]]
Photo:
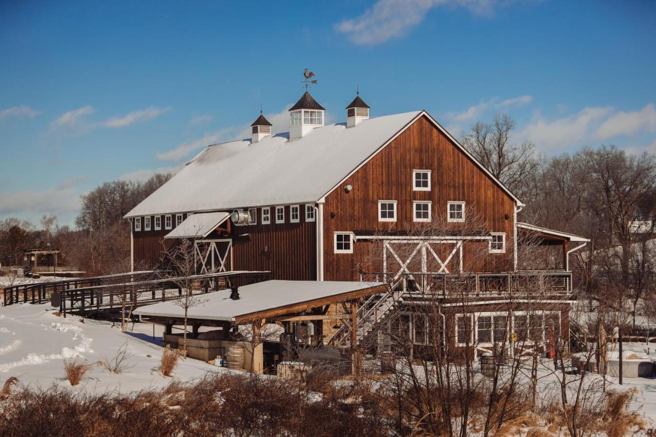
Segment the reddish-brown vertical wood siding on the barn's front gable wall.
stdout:
[[[413,169],[431,171],[430,191],[413,190]],[[415,121],[344,181],[342,186],[346,185],[353,187],[350,192],[339,187],[327,196],[324,205],[325,280],[358,280],[360,272],[380,271],[382,266],[370,265],[371,257],[367,254],[371,253],[372,245],[381,243],[358,241],[354,244],[354,253],[336,254],[334,233],[414,228],[419,224],[413,222],[413,200],[432,201],[432,218],[442,221],[447,217],[448,201],[465,201],[467,213],[476,214],[485,230],[506,233],[506,252],[485,253],[473,262],[472,254],[481,253],[481,249],[486,251],[487,243],[466,244],[464,266],[469,271],[479,272],[512,270],[514,200],[426,117]],[[396,222],[379,222],[379,199],[397,201]],[[446,248],[436,248],[438,250],[444,253]]]

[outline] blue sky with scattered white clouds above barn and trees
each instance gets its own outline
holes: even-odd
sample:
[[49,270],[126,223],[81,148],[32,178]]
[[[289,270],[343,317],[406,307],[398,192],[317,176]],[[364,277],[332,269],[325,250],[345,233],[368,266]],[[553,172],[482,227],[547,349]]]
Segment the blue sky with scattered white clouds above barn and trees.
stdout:
[[385,115],[453,135],[507,112],[546,155],[656,152],[656,2],[351,0],[0,3],[0,219],[70,224],[79,196],[174,171],[207,144],[274,129],[302,94],[327,119],[356,85]]

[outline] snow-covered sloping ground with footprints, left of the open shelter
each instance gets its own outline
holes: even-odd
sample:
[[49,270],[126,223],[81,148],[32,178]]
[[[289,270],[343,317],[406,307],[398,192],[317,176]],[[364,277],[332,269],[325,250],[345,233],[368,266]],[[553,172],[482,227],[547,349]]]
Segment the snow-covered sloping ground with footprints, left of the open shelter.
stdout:
[[[64,360],[79,356],[93,363],[111,360],[127,342],[130,369],[113,375],[104,367],[93,367],[75,390],[119,390],[129,392],[159,388],[174,379],[188,381],[207,372],[226,371],[197,360],[179,360],[175,376],[157,372],[162,348],[161,326],[135,323],[134,331],[122,332],[111,322],[55,316],[49,304],[18,304],[0,308],[0,384],[15,376],[25,384],[71,387],[64,373]],[[132,325],[129,329],[132,329]]]

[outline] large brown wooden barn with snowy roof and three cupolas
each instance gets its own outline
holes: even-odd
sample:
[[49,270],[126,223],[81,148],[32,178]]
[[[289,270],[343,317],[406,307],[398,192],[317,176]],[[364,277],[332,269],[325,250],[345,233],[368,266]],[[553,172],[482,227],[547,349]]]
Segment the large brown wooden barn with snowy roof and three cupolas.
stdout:
[[[251,138],[207,146],[125,216],[133,268],[157,268],[167,248],[193,239],[199,273],[387,283],[359,307],[365,321],[375,313],[361,337],[428,294],[453,348],[485,350],[523,326],[543,340],[549,325],[569,332],[569,255],[586,239],[518,222],[522,201],[428,112],[371,117],[359,93],[345,110],[345,122],[326,125],[306,91],[289,132],[272,133],[260,112]],[[527,247],[550,249],[551,261]],[[511,314],[495,312],[508,302]],[[408,308],[404,323],[420,350],[427,322]],[[349,337],[347,324],[334,328],[326,343]]]

